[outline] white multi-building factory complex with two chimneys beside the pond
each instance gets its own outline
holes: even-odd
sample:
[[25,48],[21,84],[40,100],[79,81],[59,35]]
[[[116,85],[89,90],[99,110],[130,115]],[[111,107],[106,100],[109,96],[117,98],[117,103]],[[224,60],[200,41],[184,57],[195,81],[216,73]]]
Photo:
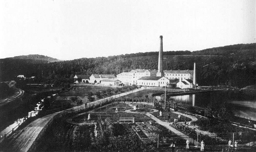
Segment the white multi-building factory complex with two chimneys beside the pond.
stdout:
[[[116,75],[116,79],[125,85],[141,86],[176,86],[179,88],[196,87],[196,75],[194,70],[164,70],[163,71],[163,36],[160,36],[160,48],[158,54],[158,69],[135,69]],[[174,84],[176,83],[176,84]]]

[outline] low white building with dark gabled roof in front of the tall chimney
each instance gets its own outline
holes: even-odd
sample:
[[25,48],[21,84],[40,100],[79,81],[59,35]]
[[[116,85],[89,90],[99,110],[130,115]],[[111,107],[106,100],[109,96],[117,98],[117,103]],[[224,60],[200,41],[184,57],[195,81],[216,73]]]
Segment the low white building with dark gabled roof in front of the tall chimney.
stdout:
[[163,87],[167,86],[167,84],[169,84],[169,80],[166,77],[161,76],[146,76],[137,80],[137,85],[141,86]]

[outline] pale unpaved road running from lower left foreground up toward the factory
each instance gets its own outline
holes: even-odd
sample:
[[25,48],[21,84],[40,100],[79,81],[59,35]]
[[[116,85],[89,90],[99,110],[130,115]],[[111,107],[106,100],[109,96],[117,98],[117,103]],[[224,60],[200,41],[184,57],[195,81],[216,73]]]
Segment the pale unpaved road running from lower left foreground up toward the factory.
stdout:
[[[118,98],[118,97],[125,96],[127,94],[134,93],[140,90],[143,90],[143,89],[136,89],[130,92],[113,95],[111,97],[107,97],[104,99],[91,102],[90,104],[99,104],[100,102],[105,102],[105,100],[108,100],[110,98]],[[81,105],[79,106],[79,108],[80,107],[85,107],[85,105]],[[78,107],[67,109],[65,110],[65,113],[74,111],[76,109],[78,109]],[[35,121],[31,122],[29,125],[27,125],[25,128],[19,131],[16,131],[14,134],[8,136],[8,140],[9,140],[8,143],[4,145],[5,147],[0,147],[0,151],[3,150],[3,151],[27,152],[29,148],[34,144],[34,141],[36,140],[38,135],[44,133],[44,128],[46,128],[46,126],[52,122],[54,116],[62,112],[63,111],[44,116],[42,118],[38,118]]]

